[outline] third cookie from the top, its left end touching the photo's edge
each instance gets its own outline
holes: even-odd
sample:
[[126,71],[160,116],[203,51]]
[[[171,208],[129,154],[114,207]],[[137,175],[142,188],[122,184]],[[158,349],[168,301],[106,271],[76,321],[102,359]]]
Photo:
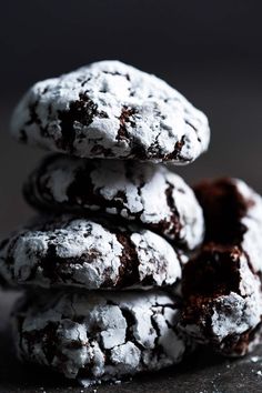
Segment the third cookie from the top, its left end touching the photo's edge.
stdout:
[[70,215],[38,221],[0,244],[0,275],[11,285],[171,285],[188,260],[149,230]]

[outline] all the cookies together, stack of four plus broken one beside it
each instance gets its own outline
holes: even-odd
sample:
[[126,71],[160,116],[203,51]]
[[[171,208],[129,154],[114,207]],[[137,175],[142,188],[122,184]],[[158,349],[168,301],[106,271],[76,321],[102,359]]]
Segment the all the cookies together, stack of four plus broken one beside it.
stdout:
[[20,359],[98,382],[175,364],[195,343],[242,355],[258,342],[261,198],[233,179],[194,193],[164,165],[210,139],[177,90],[98,62],[34,84],[12,130],[56,152],[24,184],[39,215],[0,245],[1,278],[27,290]]

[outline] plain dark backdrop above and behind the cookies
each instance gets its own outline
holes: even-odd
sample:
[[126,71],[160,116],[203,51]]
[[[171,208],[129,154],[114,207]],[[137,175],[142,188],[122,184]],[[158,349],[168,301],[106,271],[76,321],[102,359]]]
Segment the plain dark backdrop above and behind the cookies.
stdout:
[[8,135],[33,82],[100,59],[157,73],[210,118],[208,154],[187,180],[230,174],[262,191],[261,1],[26,0],[1,2],[0,235],[30,213],[20,195],[43,154]]

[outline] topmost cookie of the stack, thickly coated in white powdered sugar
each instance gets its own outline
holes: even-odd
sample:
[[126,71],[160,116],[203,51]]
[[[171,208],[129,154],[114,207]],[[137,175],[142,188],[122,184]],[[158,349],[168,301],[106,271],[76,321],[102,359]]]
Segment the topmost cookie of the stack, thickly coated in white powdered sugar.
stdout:
[[101,61],[34,84],[18,104],[21,141],[81,158],[185,164],[208,149],[206,117],[154,75]]

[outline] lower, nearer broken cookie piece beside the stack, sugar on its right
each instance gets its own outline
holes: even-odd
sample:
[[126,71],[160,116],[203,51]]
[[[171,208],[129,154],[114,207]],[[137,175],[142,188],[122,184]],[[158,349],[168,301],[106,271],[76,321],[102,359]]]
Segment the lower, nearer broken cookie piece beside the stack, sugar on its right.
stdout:
[[182,291],[185,331],[225,355],[245,354],[246,333],[259,325],[262,315],[261,280],[245,252],[206,244],[184,266]]

